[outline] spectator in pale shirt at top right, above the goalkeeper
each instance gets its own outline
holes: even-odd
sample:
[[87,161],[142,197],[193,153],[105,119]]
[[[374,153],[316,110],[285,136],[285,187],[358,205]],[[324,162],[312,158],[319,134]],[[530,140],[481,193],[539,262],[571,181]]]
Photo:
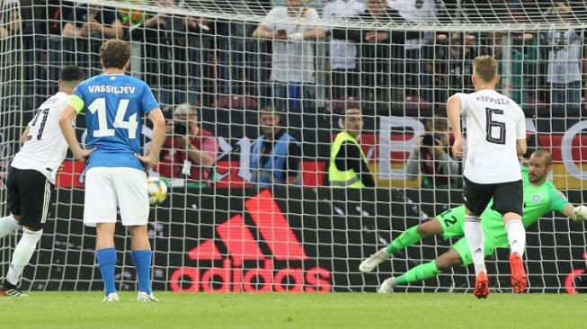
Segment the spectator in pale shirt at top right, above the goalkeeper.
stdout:
[[[569,22],[574,13],[569,4],[559,1],[547,14],[553,21]],[[574,28],[547,32],[547,83],[550,84],[553,114],[557,116],[578,114],[581,104],[582,43],[583,31]]]

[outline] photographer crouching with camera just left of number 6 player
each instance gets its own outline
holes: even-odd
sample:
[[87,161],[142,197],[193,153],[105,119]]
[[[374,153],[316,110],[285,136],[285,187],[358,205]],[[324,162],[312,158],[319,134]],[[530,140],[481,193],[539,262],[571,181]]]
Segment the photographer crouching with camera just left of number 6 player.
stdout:
[[449,150],[449,124],[446,118],[434,117],[426,121],[427,132],[414,147],[405,165],[408,181],[422,175],[422,187],[448,189],[461,186],[460,164]]

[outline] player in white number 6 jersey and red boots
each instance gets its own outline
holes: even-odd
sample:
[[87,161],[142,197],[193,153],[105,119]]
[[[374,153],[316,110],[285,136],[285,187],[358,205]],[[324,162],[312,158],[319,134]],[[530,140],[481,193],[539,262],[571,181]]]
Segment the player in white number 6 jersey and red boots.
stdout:
[[495,91],[499,80],[495,58],[479,56],[473,61],[471,76],[476,92],[456,93],[447,102],[455,156],[463,156],[460,115],[465,118],[467,127],[464,231],[475,265],[477,298],[486,298],[489,294],[480,216],[492,198],[492,207],[502,214],[510,242],[511,285],[520,293],[528,284],[521,260],[526,247],[526,230],[521,222],[523,190],[518,161],[518,156],[526,153],[526,119],[516,102]]

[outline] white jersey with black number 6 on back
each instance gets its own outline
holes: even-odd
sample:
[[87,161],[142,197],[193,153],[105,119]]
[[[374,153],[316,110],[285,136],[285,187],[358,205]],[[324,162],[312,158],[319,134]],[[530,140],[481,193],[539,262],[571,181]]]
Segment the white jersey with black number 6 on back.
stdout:
[[521,179],[516,143],[526,139],[520,106],[494,90],[456,93],[467,127],[463,175],[471,182],[499,183]]

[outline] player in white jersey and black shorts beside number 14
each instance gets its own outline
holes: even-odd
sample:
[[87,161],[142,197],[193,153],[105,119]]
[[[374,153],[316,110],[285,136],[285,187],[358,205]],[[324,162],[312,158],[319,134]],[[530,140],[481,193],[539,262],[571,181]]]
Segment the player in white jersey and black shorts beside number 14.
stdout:
[[63,67],[59,92],[40,105],[22,133],[24,143],[8,168],[6,208],[10,215],[0,218],[0,237],[22,227],[8,273],[0,286],[0,296],[25,297],[18,288],[22,270],[31,260],[43,225],[49,218],[55,176],[67,154],[67,142],[59,128],[59,116],[76,84],[84,80],[76,66]]

